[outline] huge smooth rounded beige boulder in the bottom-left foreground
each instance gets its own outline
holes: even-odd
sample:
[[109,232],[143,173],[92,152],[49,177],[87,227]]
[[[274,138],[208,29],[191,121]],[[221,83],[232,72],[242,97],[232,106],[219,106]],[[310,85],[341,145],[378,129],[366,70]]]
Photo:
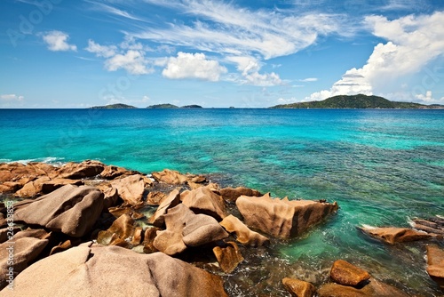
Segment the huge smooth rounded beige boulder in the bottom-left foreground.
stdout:
[[81,245],[37,261],[9,296],[227,296],[222,279],[164,253]]

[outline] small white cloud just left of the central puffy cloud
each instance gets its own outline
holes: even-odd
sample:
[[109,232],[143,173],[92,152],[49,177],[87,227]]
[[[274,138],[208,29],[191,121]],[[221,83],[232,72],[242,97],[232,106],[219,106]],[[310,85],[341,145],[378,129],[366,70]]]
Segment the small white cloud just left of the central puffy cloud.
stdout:
[[144,52],[129,50],[124,54],[117,53],[105,61],[105,68],[108,71],[115,71],[119,68],[125,69],[132,75],[142,75],[152,72],[147,68],[147,60]]

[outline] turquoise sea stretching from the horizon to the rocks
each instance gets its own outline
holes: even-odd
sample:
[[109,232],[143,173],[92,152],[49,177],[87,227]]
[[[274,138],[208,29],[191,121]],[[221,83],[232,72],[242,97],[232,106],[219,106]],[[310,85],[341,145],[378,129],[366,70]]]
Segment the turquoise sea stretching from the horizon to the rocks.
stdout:
[[424,244],[388,246],[356,227],[444,215],[444,110],[0,109],[0,140],[0,162],[97,159],[337,201],[320,227],[243,263],[228,277],[233,296],[285,296],[274,291],[282,277],[320,284],[337,259],[412,295],[442,294],[425,272]]

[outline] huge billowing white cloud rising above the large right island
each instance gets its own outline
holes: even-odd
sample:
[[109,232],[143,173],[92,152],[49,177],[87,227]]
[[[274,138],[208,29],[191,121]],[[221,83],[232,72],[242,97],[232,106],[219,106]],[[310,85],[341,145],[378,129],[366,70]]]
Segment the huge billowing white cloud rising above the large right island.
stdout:
[[[432,15],[408,15],[397,20],[369,16],[364,20],[373,34],[385,38],[377,44],[362,68],[352,68],[330,90],[313,93],[313,100],[339,94],[392,92],[402,77],[408,77],[444,52],[444,12]],[[410,92],[411,93],[411,92]],[[423,95],[426,99],[426,95]],[[410,99],[413,99],[410,96]]]

